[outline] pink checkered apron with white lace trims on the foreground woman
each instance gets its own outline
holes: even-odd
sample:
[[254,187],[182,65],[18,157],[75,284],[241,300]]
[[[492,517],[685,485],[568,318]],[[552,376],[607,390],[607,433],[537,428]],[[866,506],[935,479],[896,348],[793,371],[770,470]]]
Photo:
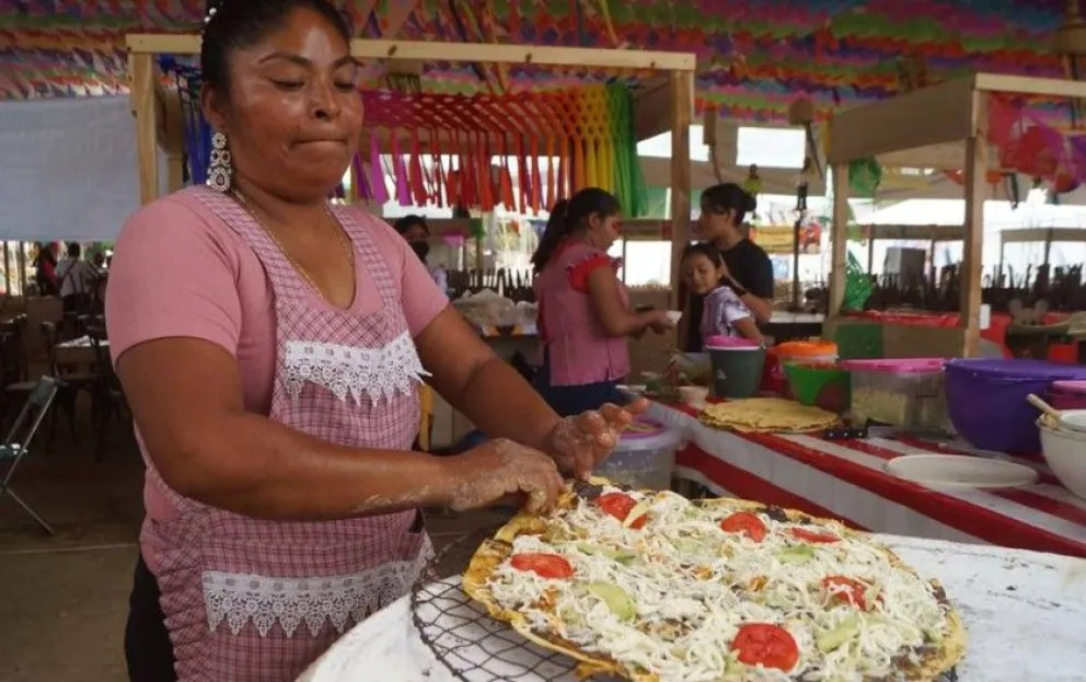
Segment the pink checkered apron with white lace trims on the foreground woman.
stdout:
[[[335,211],[354,243],[356,267],[377,285],[381,310],[359,316],[314,307],[307,285],[244,208],[203,187],[188,192],[249,243],[272,282],[272,419],[327,442],[408,449],[423,371],[398,281],[372,236],[351,213]],[[150,462],[148,475],[177,509],[171,521],[147,521],[142,541],[182,682],[293,680],[350,625],[403,597],[431,555],[416,511],[259,521],[180,496]]]

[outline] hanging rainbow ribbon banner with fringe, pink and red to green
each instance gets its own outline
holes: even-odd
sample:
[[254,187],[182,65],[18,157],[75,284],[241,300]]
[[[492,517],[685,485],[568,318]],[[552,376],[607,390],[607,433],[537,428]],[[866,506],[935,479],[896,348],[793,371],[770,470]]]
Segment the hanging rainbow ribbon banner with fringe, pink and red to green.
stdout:
[[[584,187],[646,210],[624,85],[455,95],[363,91],[368,138],[355,160],[359,195],[402,206],[496,206],[539,215]],[[391,151],[385,167],[383,152]]]

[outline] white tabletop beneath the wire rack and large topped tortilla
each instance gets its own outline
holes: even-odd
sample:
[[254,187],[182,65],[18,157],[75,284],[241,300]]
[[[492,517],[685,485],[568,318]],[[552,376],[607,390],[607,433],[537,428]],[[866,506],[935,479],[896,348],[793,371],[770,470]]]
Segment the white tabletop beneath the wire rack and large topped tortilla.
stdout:
[[[968,652],[958,667],[962,682],[1086,680],[1086,559],[894,535],[880,539],[923,576],[939,579],[957,605],[969,628]],[[455,679],[419,638],[407,598],[356,626],[299,678]]]

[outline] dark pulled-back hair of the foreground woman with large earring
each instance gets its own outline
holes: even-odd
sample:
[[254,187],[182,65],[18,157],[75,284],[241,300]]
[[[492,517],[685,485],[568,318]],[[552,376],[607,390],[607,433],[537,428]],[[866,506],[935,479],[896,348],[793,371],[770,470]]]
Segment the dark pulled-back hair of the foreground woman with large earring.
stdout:
[[287,23],[294,10],[308,9],[327,20],[350,42],[350,27],[327,0],[208,0],[204,12],[200,70],[204,82],[220,96],[230,93],[230,55],[252,47]]

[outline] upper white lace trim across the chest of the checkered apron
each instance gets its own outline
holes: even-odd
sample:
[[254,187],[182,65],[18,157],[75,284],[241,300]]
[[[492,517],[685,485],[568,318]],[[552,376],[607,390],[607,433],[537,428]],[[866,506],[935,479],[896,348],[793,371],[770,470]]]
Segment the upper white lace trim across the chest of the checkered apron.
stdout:
[[324,386],[340,401],[349,395],[360,404],[366,395],[379,404],[397,393],[409,395],[423,377],[429,377],[408,332],[382,348],[290,340],[285,355],[284,382],[294,400],[308,381]]

